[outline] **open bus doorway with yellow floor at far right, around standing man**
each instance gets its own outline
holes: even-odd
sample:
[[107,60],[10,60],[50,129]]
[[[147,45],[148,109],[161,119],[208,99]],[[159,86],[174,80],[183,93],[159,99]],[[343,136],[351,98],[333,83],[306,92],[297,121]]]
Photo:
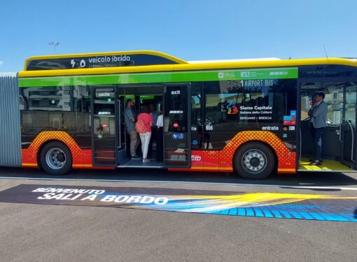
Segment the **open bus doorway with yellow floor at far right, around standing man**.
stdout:
[[[314,92],[325,92],[328,105],[326,128],[323,132],[322,165],[309,165],[314,158],[311,120],[307,111]],[[300,171],[356,170],[356,99],[357,85],[353,82],[302,83],[300,121]]]

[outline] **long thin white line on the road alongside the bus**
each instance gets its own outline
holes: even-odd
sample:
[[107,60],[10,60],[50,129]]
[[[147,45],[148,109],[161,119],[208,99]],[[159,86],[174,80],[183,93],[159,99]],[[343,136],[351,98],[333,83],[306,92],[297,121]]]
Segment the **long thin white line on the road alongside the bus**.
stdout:
[[302,189],[332,189],[332,190],[351,190],[357,188],[339,186],[288,186],[288,185],[265,185],[265,184],[241,184],[225,182],[196,182],[196,181],[165,181],[165,180],[122,180],[122,179],[60,179],[60,178],[41,178],[41,177],[0,177],[0,179],[27,179],[27,180],[49,180],[49,181],[97,181],[97,182],[120,182],[120,183],[162,183],[162,184],[202,184],[216,186],[257,186],[257,187],[279,187],[279,188],[302,188]]

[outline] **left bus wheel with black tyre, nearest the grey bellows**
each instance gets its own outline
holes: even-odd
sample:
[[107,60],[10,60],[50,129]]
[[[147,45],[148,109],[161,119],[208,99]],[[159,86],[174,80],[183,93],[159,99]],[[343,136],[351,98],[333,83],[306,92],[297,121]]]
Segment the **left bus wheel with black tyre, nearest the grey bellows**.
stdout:
[[40,162],[41,167],[48,174],[66,174],[72,167],[71,151],[61,142],[50,142],[43,146]]

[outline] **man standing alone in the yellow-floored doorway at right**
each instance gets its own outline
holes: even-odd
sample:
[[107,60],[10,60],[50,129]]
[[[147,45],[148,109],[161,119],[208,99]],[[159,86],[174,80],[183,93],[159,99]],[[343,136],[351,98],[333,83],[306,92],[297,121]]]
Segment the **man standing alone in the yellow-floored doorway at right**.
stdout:
[[328,106],[323,99],[325,99],[325,94],[323,92],[316,92],[314,96],[314,104],[309,110],[315,145],[315,159],[311,161],[310,165],[321,165],[322,162],[322,135],[323,130],[325,130],[326,127],[326,116],[328,111]]

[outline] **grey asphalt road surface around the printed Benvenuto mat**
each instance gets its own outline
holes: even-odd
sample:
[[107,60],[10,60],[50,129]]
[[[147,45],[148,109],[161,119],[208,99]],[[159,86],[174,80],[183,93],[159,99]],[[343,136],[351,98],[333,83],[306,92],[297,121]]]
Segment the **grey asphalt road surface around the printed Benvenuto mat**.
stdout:
[[[221,173],[80,170],[52,181],[38,170],[0,168],[0,177],[7,177],[0,191],[61,184],[357,195],[356,173],[247,181]],[[357,261],[352,222],[3,202],[0,214],[1,261]]]

